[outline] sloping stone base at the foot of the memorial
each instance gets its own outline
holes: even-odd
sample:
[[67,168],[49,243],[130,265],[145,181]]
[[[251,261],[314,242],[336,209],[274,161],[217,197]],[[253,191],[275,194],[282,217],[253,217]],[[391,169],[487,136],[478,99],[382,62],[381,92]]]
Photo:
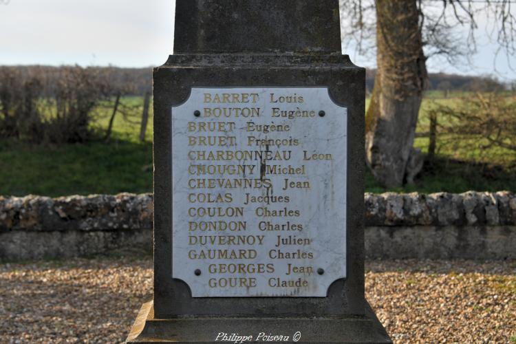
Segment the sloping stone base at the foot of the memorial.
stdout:
[[[296,341],[298,343],[392,343],[369,303],[365,316],[235,317],[195,316],[155,319],[153,300],[144,303],[127,336],[127,343],[245,343]],[[259,338],[259,335],[261,338]],[[224,338],[224,334],[226,337]],[[233,336],[233,337],[232,337]],[[237,338],[241,336],[242,338]],[[247,340],[244,337],[252,336]],[[269,337],[267,337],[269,336]],[[272,338],[277,336],[277,338]],[[280,336],[283,336],[280,338]],[[286,338],[288,336],[288,338]],[[299,336],[299,338],[297,337]]]

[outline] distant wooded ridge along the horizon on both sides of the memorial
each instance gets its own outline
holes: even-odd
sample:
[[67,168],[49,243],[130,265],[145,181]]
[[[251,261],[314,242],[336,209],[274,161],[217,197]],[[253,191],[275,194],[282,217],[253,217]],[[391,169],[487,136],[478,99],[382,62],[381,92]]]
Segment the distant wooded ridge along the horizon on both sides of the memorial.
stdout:
[[[23,75],[43,74],[45,78],[58,78],[63,67],[50,66],[17,66]],[[152,68],[120,68],[120,67],[85,67],[87,72],[95,76],[103,76],[110,83],[111,89],[123,94],[141,96],[151,91]],[[376,69],[367,69],[365,84],[367,92],[372,92]],[[53,76],[53,77],[52,77]],[[1,82],[1,80],[0,80]],[[458,74],[430,73],[429,90],[440,91],[479,91],[491,92],[507,89],[508,85],[499,82],[491,76],[462,76]]]

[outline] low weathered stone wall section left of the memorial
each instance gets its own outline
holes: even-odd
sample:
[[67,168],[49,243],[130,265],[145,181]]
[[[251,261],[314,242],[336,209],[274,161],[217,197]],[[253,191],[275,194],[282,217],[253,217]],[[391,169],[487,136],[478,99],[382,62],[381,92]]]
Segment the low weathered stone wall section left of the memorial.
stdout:
[[0,259],[152,250],[151,194],[0,197]]

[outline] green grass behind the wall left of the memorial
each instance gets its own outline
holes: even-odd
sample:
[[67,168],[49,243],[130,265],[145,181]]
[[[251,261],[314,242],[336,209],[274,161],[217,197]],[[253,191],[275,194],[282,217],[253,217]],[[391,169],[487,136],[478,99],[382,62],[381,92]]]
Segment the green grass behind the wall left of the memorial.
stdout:
[[[142,98],[125,98],[125,105]],[[152,111],[152,106],[150,111]],[[111,140],[60,146],[0,140],[0,195],[89,195],[152,191],[152,112],[147,136],[140,142],[140,116],[126,120],[117,114]],[[111,109],[99,109],[93,127],[100,137]]]

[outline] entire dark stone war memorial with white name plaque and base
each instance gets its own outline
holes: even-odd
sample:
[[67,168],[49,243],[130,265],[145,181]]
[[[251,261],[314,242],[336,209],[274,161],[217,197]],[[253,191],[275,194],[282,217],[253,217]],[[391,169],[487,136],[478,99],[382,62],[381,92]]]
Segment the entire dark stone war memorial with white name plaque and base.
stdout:
[[177,0],[154,297],[127,342],[390,343],[364,296],[365,69],[338,0]]

